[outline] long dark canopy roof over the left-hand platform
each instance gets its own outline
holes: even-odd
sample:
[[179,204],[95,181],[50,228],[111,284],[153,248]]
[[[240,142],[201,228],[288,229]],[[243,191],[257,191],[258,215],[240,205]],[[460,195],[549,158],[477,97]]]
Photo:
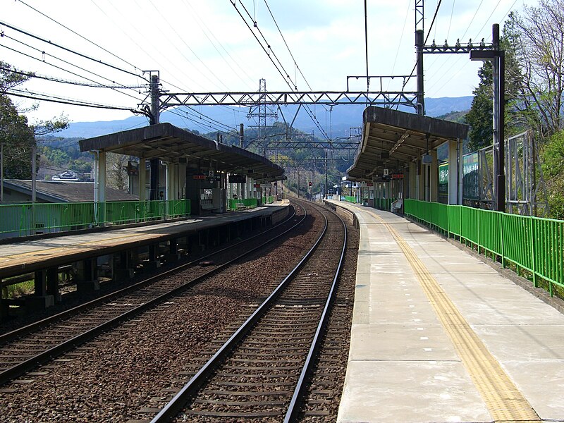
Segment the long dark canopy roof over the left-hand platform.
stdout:
[[79,144],[81,152],[111,152],[172,163],[197,162],[202,168],[255,179],[276,180],[284,173],[283,168],[258,154],[209,140],[170,123],[87,138]]

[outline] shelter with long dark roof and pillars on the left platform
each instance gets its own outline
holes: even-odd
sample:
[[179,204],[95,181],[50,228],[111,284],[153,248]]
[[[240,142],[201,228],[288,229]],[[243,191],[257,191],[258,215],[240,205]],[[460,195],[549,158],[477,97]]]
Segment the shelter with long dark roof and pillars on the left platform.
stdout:
[[130,192],[141,201],[185,198],[192,214],[224,212],[228,197],[271,195],[271,183],[285,179],[283,168],[258,154],[170,123],[81,140],[80,151],[94,153],[97,202],[105,201],[107,153],[130,158]]

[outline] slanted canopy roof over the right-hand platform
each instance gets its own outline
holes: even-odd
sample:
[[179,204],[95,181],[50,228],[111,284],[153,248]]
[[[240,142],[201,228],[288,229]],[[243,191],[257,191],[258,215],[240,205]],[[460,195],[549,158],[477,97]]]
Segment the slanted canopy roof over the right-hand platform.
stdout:
[[369,106],[364,131],[349,180],[372,180],[384,168],[403,168],[448,140],[463,140],[468,126],[428,116]]

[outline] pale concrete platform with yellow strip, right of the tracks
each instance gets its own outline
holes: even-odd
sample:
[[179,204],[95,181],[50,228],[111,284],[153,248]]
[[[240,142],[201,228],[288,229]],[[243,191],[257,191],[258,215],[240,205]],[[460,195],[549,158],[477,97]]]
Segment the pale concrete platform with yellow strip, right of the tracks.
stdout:
[[564,315],[416,223],[360,226],[338,422],[564,422]]

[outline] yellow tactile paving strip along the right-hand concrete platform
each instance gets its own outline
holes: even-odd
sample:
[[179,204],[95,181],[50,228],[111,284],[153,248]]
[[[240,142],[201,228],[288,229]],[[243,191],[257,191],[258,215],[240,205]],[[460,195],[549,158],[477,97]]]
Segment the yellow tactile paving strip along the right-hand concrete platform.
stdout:
[[498,361],[462,317],[453,302],[401,235],[380,216],[372,214],[390,231],[407,257],[462,363],[470,374],[495,422],[540,422],[537,412],[522,396]]

